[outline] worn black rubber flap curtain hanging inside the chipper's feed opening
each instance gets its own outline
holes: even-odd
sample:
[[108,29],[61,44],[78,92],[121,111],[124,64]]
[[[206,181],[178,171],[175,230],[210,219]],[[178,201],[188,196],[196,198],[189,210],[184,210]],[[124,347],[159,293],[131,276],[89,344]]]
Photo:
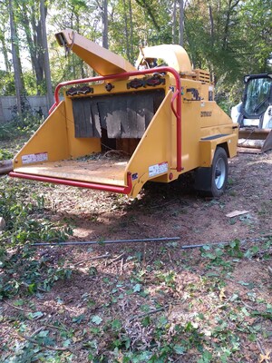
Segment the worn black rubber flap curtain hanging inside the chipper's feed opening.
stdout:
[[75,137],[141,138],[164,98],[164,91],[109,94],[73,99]]

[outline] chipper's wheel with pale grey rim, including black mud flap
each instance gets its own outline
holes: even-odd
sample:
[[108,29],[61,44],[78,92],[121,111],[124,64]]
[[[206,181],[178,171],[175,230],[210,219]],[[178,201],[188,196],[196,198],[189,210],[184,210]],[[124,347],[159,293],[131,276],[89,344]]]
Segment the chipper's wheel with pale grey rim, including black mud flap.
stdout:
[[227,188],[228,156],[225,149],[217,147],[210,168],[199,168],[195,174],[195,189],[200,194],[219,198]]

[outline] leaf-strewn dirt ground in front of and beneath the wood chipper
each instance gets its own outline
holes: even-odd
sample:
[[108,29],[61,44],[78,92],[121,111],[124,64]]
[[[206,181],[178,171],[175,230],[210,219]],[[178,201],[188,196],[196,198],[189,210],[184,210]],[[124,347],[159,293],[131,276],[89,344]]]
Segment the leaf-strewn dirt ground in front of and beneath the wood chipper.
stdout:
[[[47,256],[51,263],[63,260],[73,275],[69,280],[56,281],[49,292],[25,298],[21,311],[14,307],[15,301],[4,304],[3,315],[9,318],[4,319],[0,332],[3,346],[18,341],[13,321],[22,311],[26,314],[30,310],[40,315],[25,323],[25,333],[19,336],[21,344],[22,340],[30,344],[29,339],[24,340],[25,335],[39,336],[41,327],[50,330],[58,347],[70,339],[70,346],[65,344],[71,350],[60,349],[54,352],[60,360],[47,361],[271,361],[272,299],[267,270],[271,261],[262,259],[261,249],[255,257],[251,254],[254,258],[239,260],[235,248],[226,250],[225,263],[220,250],[214,252],[218,255],[213,258],[205,255],[205,250],[182,247],[239,240],[244,253],[262,239],[269,240],[272,152],[239,153],[230,160],[228,190],[218,200],[202,198],[193,191],[189,175],[169,185],[150,183],[135,200],[99,191],[27,183],[44,195],[51,221],[61,221],[73,228],[70,240],[180,240],[38,248],[37,258]],[[228,217],[233,211],[244,212]],[[270,318],[266,318],[267,311]],[[162,318],[167,319],[163,329]],[[220,328],[222,321],[225,328]],[[55,325],[56,322],[61,325]],[[118,332],[111,328],[117,322],[121,324]],[[73,331],[73,338],[67,338],[67,333],[65,341],[64,335],[56,332],[64,326],[62,334],[68,329]],[[177,327],[183,327],[182,338],[181,332],[175,330]],[[172,353],[163,353],[163,344],[171,347]],[[15,348],[6,349],[5,358],[15,357]],[[141,359],[145,351],[156,351],[158,357],[161,354],[168,358]],[[132,353],[134,358],[128,358]]]

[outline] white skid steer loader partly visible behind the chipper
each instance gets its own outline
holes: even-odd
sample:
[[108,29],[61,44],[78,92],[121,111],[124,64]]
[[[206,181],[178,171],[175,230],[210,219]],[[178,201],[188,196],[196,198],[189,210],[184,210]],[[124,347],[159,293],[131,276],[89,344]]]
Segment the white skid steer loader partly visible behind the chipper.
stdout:
[[272,149],[272,74],[250,74],[244,77],[241,103],[231,110],[239,124],[240,152],[267,152]]

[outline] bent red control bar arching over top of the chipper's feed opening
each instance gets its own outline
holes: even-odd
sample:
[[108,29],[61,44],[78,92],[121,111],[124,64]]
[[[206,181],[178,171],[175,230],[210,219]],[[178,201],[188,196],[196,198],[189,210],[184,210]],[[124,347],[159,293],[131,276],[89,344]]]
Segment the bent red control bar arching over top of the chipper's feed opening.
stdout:
[[[157,74],[162,72],[169,72],[170,74],[173,74],[175,81],[176,81],[176,92],[174,93],[172,100],[171,100],[171,109],[173,113],[176,116],[177,119],[177,171],[181,172],[181,82],[180,82],[180,74],[171,67],[158,67],[158,68],[150,68],[150,69],[143,69],[141,71],[135,71],[135,72],[125,72],[122,74],[109,74],[109,75],[100,75],[97,77],[91,77],[91,78],[84,78],[84,79],[78,79],[78,80],[72,80],[72,81],[66,81],[59,83],[54,91],[54,98],[55,103],[53,103],[53,106],[49,110],[49,113],[53,111],[53,108],[56,107],[60,103],[59,98],[59,91],[60,89],[65,85],[71,85],[75,83],[89,83],[89,82],[98,82],[98,81],[107,81],[112,79],[118,79],[118,78],[128,78],[133,75],[139,75],[139,74]],[[176,112],[173,109],[173,102],[177,98],[177,110]]]

